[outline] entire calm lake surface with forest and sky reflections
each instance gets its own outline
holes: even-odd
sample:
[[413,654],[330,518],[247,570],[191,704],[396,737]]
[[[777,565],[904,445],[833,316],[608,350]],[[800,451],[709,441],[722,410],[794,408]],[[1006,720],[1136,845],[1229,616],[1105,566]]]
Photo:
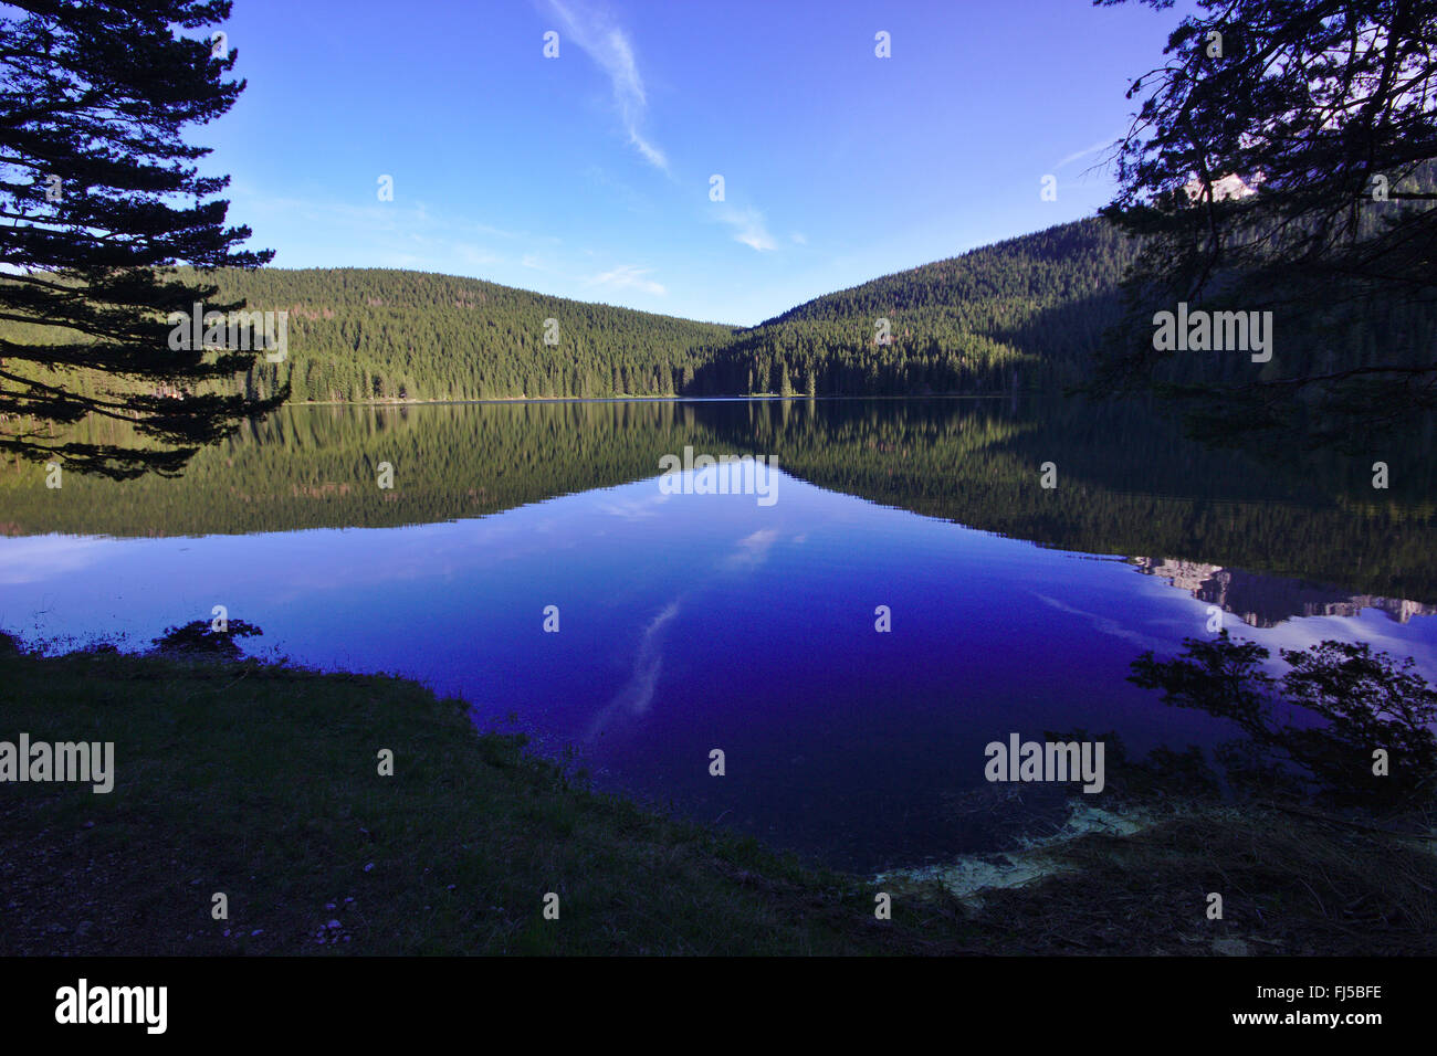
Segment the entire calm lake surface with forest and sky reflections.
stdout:
[[[1427,443],[1255,460],[1017,399],[290,408],[180,480],[9,467],[0,626],[138,649],[224,605],[263,628],[249,652],[417,677],[601,787],[920,865],[1012,836],[989,741],[1233,737],[1125,681],[1210,606],[1275,652],[1365,641],[1437,677]],[[685,447],[776,457],[770,496],[673,494]]]

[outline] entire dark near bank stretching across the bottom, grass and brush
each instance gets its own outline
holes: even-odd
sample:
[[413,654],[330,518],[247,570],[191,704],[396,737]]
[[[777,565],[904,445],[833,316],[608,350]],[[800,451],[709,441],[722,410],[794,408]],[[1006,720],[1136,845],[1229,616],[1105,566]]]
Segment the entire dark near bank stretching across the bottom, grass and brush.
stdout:
[[0,740],[114,741],[115,787],[0,786],[0,954],[1434,951],[1437,856],[1315,819],[1091,833],[979,899],[890,878],[879,921],[871,881],[589,792],[405,680],[6,645]]

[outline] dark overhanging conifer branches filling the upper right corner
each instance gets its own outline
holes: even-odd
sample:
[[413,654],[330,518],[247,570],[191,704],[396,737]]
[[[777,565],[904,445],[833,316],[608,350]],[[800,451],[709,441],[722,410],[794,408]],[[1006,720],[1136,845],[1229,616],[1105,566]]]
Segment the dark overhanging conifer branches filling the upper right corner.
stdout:
[[[1433,0],[1191,6],[1128,92],[1102,216],[1142,249],[1089,391],[1173,397],[1206,441],[1348,450],[1437,408],[1434,34]],[[1272,359],[1155,349],[1180,302],[1272,312]]]

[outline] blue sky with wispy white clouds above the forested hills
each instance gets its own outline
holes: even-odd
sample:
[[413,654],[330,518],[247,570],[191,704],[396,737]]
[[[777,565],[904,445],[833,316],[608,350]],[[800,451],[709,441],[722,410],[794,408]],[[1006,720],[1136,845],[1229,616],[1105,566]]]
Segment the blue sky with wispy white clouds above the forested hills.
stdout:
[[1099,148],[1177,17],[1083,0],[236,0],[224,29],[249,89],[195,139],[277,267],[412,267],[753,325],[1091,216],[1112,190]]

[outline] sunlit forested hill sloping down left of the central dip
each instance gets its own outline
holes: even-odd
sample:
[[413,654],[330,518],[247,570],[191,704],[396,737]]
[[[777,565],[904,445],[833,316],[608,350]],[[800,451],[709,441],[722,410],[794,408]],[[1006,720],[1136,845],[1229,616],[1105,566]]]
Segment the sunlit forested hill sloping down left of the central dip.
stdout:
[[733,335],[424,272],[223,270],[214,282],[226,300],[289,312],[289,362],[260,363],[247,384],[269,391],[287,371],[296,401],[675,395]]

